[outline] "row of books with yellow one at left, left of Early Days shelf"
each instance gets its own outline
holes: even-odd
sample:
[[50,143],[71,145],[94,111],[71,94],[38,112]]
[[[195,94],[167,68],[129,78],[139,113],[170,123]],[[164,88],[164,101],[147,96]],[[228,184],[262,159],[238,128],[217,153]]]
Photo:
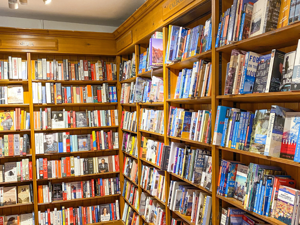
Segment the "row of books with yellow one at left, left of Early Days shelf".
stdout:
[[164,143],[158,140],[142,137],[140,157],[155,165],[161,166],[161,156],[164,151]]

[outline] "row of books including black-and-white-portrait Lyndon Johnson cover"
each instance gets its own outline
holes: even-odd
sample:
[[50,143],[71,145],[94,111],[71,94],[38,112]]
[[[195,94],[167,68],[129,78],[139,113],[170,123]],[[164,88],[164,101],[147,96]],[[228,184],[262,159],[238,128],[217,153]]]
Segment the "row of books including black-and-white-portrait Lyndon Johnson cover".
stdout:
[[113,131],[92,131],[82,135],[70,135],[70,132],[35,133],[36,155],[118,148],[119,133]]

